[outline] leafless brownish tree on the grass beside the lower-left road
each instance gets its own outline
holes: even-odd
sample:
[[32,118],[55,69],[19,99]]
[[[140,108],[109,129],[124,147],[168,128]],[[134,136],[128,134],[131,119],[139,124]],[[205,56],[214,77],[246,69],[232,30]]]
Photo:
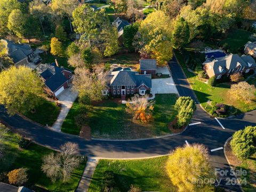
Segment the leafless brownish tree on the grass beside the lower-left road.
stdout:
[[79,147],[76,143],[67,142],[60,147],[60,153],[50,153],[43,157],[42,171],[53,182],[57,179],[67,181],[81,162]]

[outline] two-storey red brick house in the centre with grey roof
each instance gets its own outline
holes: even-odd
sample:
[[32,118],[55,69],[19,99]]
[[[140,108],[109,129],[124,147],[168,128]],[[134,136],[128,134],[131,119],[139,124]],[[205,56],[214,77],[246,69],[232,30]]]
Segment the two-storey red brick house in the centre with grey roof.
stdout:
[[121,96],[125,100],[126,95],[133,95],[139,93],[145,95],[150,93],[151,89],[151,75],[141,75],[135,71],[112,71],[107,76],[108,89],[103,91],[103,95],[108,93],[114,97]]

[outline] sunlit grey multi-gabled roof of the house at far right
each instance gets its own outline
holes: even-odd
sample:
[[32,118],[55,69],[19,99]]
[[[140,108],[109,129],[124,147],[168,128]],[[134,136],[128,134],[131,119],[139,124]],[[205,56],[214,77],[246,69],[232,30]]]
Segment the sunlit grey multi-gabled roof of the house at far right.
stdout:
[[218,75],[226,73],[230,69],[235,69],[238,66],[248,68],[248,62],[252,63],[252,66],[256,66],[254,59],[250,55],[239,57],[238,54],[230,54],[226,57],[217,58],[212,61],[206,60],[203,65],[209,65],[211,67],[210,70],[213,70],[214,75]]

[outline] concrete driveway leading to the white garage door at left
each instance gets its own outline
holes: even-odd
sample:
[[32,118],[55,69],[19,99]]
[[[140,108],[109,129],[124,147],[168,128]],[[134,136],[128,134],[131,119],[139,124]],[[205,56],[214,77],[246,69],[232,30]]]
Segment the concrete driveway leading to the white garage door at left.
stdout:
[[60,114],[55,121],[55,123],[52,125],[51,129],[54,131],[61,131],[61,126],[63,122],[65,121],[65,118],[68,115],[69,110],[73,106],[74,101],[77,98],[78,93],[74,92],[71,87],[63,91],[60,96],[58,96],[59,103],[61,103],[61,109]]

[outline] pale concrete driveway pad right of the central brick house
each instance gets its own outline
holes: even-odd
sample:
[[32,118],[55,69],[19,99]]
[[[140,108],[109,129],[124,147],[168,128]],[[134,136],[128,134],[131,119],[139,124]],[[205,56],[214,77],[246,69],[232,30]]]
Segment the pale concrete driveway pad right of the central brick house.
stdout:
[[164,94],[164,93],[176,93],[178,91],[173,82],[172,77],[169,78],[157,78],[152,79],[151,93],[154,94]]

